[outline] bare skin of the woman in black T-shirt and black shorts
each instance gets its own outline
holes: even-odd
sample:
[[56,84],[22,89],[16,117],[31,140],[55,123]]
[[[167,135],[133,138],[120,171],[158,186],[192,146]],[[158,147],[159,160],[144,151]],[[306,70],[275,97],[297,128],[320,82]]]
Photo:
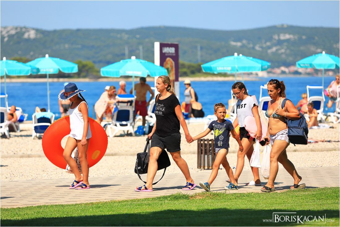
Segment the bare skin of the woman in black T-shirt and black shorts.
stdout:
[[[160,79],[160,78],[157,79],[155,87],[157,88],[157,91],[160,93],[160,95],[158,97],[159,99],[163,100],[163,99],[168,98],[171,95],[171,93],[168,92],[167,89],[166,89],[168,87],[168,84],[164,84],[162,79]],[[187,124],[185,123],[185,120],[183,118],[183,114],[182,114],[182,110],[181,110],[180,105],[177,105],[175,107],[175,113],[176,113],[176,116],[181,123],[183,130],[184,130],[185,139],[187,140],[188,143],[191,143],[193,141],[193,139],[192,139],[192,136],[189,134],[189,130],[188,130]],[[151,133],[148,135],[149,139],[151,139],[153,133],[156,130],[156,124],[157,124],[157,122],[155,123]],[[152,182],[153,182],[153,179],[155,178],[157,168],[158,168],[157,159],[158,159],[158,157],[159,157],[159,155],[162,151],[163,150],[160,147],[151,147],[150,148],[150,158],[149,158],[149,166],[148,166],[147,183],[145,184],[147,189],[152,190]],[[194,180],[190,176],[188,164],[181,157],[181,151],[171,152],[170,155],[172,156],[172,159],[176,162],[177,166],[181,169],[182,173],[184,174],[186,182],[190,182],[190,183],[193,184]],[[138,187],[136,187],[136,189],[138,189]],[[142,187],[142,190],[145,190],[145,188]]]

